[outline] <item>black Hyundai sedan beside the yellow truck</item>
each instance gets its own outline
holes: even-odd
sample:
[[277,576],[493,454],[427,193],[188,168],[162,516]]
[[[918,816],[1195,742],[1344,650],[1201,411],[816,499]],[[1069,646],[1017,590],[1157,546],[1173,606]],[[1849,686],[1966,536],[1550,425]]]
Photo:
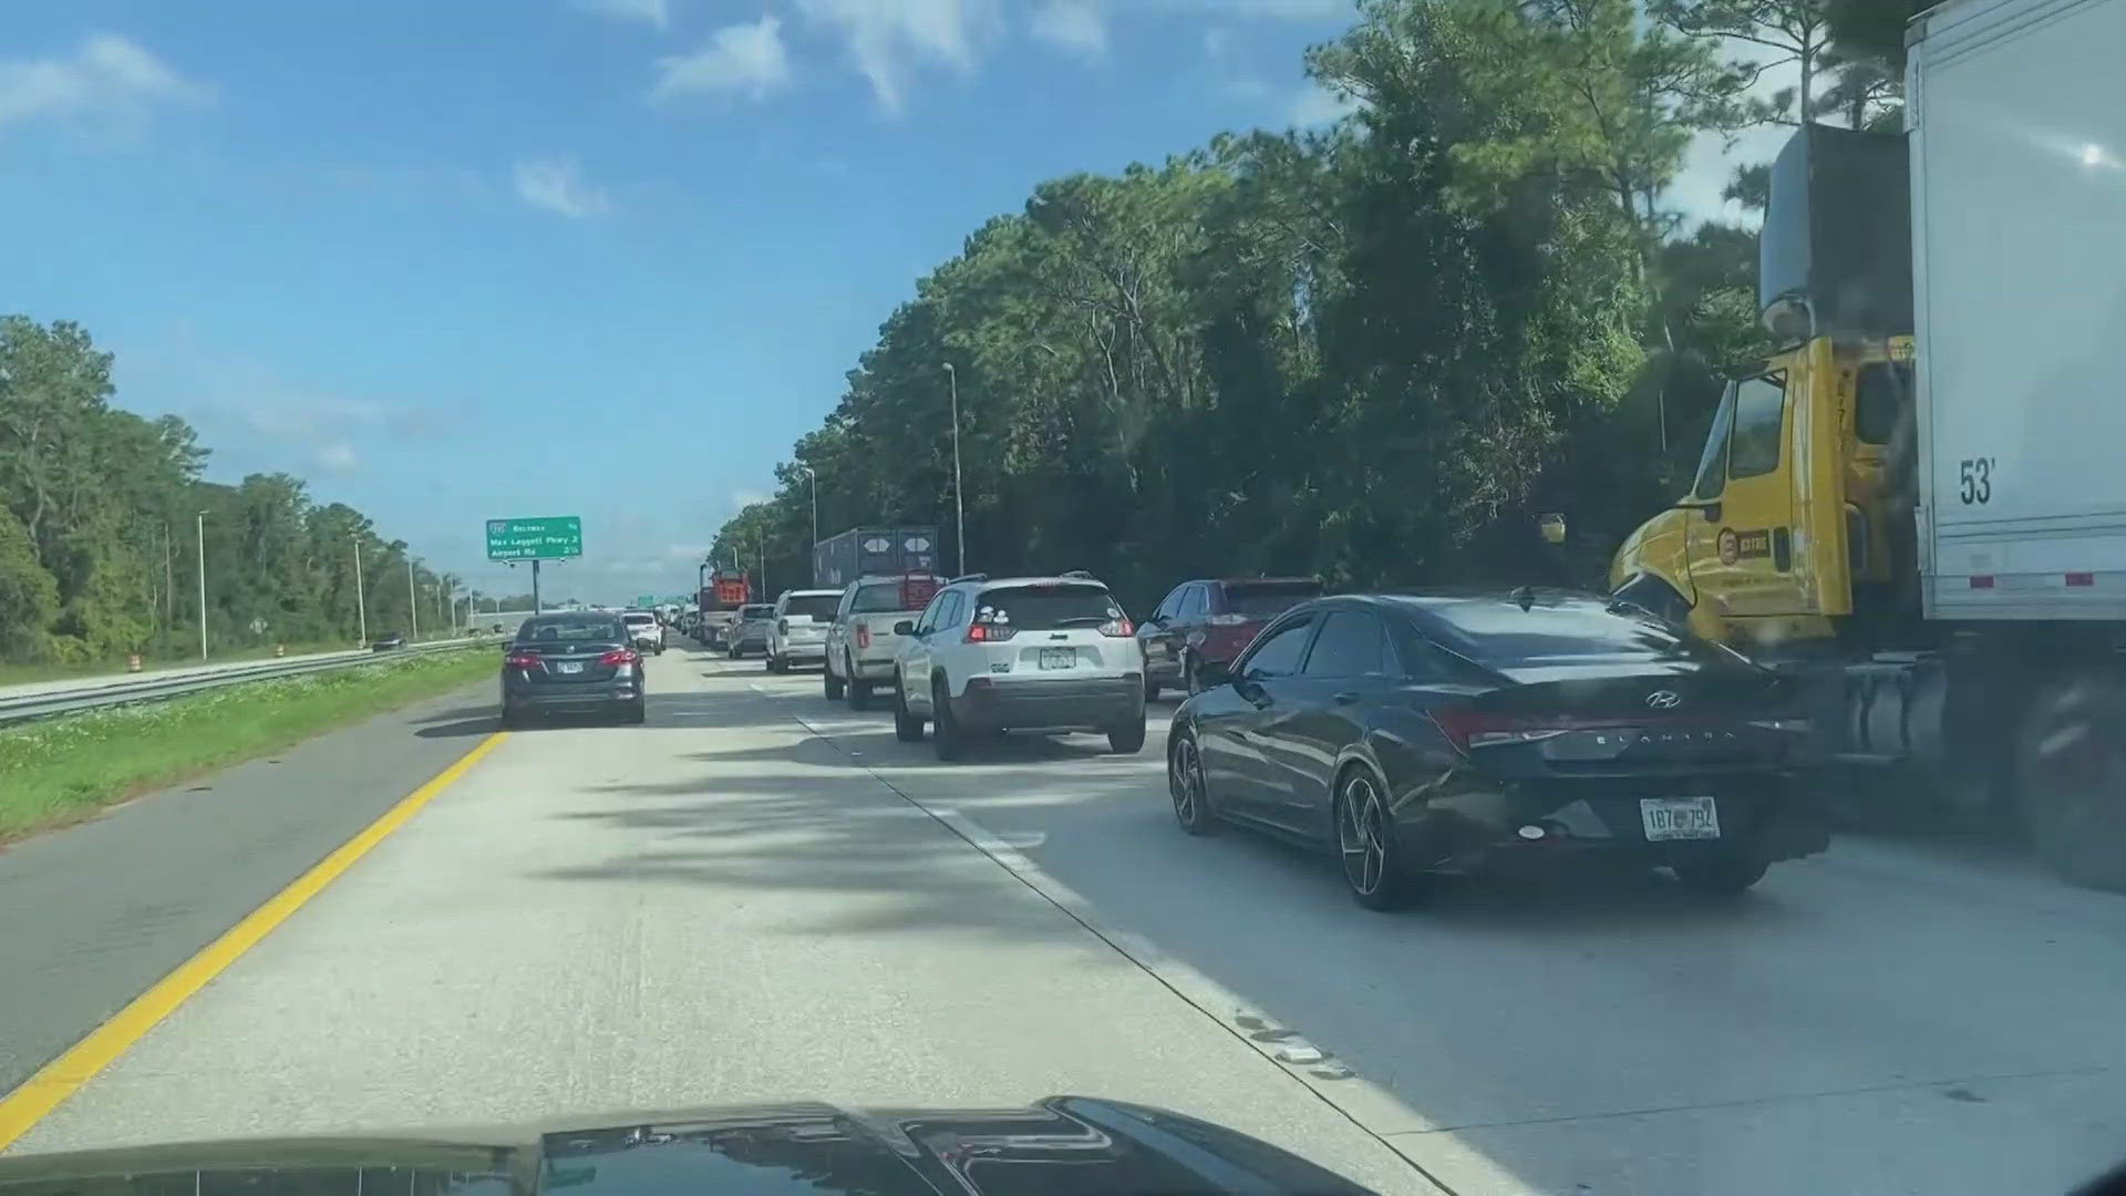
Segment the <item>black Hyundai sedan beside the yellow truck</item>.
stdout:
[[1603,598],[1320,598],[1216,681],[1167,738],[1182,830],[1335,851],[1369,909],[1586,858],[1737,894],[1828,847],[1799,692]]

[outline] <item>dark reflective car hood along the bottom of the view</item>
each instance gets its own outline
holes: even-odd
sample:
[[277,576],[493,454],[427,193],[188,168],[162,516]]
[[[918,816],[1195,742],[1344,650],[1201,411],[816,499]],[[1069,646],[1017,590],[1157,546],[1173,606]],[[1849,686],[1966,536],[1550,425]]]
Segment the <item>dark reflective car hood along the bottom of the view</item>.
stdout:
[[774,1104],[0,1158],[0,1196],[353,1196],[364,1179],[421,1196],[1365,1194],[1235,1130],[1084,1096],[1027,1109]]

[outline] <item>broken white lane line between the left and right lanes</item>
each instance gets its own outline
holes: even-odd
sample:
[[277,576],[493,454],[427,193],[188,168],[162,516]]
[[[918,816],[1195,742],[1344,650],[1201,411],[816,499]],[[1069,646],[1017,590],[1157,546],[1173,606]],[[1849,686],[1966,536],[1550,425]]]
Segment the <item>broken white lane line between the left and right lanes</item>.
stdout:
[[[759,694],[761,698],[770,700],[795,696],[789,692],[765,690],[759,683],[748,683],[746,687]],[[1265,1013],[1252,1009],[1246,1000],[1242,1000],[1239,994],[1210,979],[1195,966],[1176,960],[1167,951],[1159,949],[1144,934],[1137,934],[1135,930],[1125,930],[1112,924],[1110,919],[1101,917],[1099,911],[1093,907],[1093,902],[1089,902],[1084,896],[1080,896],[1063,881],[1050,877],[1046,870],[1042,870],[1040,864],[1029,860],[1020,849],[1006,843],[999,834],[993,834],[989,828],[959,813],[959,809],[955,807],[925,802],[923,798],[895,785],[889,777],[882,777],[872,766],[863,764],[861,760],[855,760],[855,753],[842,747],[842,743],[836,738],[838,730],[840,732],[855,732],[859,728],[874,730],[876,724],[870,721],[842,724],[840,728],[836,728],[827,721],[814,724],[804,713],[793,711],[789,707],[784,707],[784,711],[789,713],[791,721],[806,728],[814,736],[831,743],[838,751],[842,751],[842,755],[848,755],[855,768],[861,768],[867,777],[884,785],[889,792],[899,796],[910,807],[944,824],[948,830],[952,830],[952,834],[961,836],[963,841],[967,841],[969,847],[995,860],[1001,868],[1012,873],[1012,877],[1016,877],[1023,885],[1037,892],[1042,898],[1046,898],[1050,904],[1063,911],[1072,921],[1084,926],[1095,938],[1114,947],[1123,958],[1127,958],[1131,964],[1142,968],[1154,981],[1165,985],[1174,996],[1193,1004],[1199,1013],[1210,1017],[1227,1034],[1233,1034],[1250,1049],[1254,1049],[1254,1053],[1269,1060],[1278,1070],[1303,1083],[1307,1092],[1312,1092],[1320,1102],[1329,1104],[1331,1109],[1342,1113],[1352,1126],[1356,1126],[1373,1141],[1401,1156],[1403,1162],[1407,1162],[1412,1170],[1424,1177],[1427,1183],[1431,1183],[1439,1192],[1446,1192],[1448,1196],[1454,1196],[1456,1190],[1446,1179],[1435,1175],[1429,1166],[1412,1158],[1410,1151],[1405,1151],[1395,1143],[1397,1136],[1405,1134],[1418,1134],[1418,1136],[1431,1134],[1441,1128],[1437,1122],[1424,1117],[1393,1092],[1380,1087],[1369,1079],[1363,1079],[1346,1064],[1335,1062],[1320,1047],[1314,1047],[1305,1039],[1299,1039],[1299,1034],[1278,1028]],[[1220,1017],[1218,1013],[1220,1009],[1231,1013]],[[1286,1053],[1290,1053],[1293,1058],[1284,1058]],[[1501,1175],[1501,1179],[1509,1177]]]

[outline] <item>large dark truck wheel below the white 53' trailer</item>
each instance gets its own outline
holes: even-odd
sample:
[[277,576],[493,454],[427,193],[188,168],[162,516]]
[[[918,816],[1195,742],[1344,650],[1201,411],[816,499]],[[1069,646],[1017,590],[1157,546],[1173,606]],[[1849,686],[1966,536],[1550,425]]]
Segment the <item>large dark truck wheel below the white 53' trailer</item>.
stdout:
[[2126,687],[2073,670],[2037,687],[2015,745],[2015,792],[2037,856],[2092,890],[2126,890]]

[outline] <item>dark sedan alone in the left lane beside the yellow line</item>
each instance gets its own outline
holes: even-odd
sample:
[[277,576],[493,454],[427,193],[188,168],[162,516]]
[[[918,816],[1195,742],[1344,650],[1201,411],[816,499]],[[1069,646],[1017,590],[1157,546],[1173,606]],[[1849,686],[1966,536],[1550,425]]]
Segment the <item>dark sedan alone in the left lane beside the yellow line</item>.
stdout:
[[619,615],[534,615],[517,628],[502,655],[502,726],[521,726],[534,711],[648,717],[642,653]]

